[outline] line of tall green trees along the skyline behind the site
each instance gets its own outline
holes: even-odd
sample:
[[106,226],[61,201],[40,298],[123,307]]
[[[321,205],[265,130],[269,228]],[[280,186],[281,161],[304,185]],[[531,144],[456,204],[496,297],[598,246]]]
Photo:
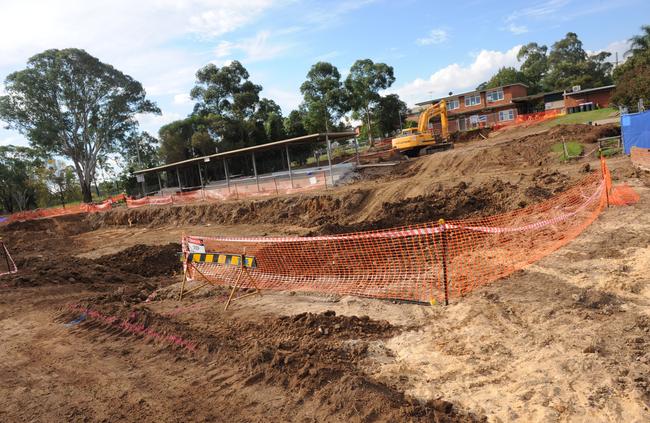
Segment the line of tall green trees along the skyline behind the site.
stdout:
[[[650,26],[641,30],[616,68],[610,53],[588,54],[569,32],[550,48],[534,42],[523,46],[519,69],[501,68],[478,88],[523,82],[538,93],[614,82],[614,104],[635,110],[640,99],[650,103]],[[275,101],[261,97],[262,86],[250,80],[240,62],[209,64],[196,73],[192,112],[160,128],[156,138],[138,128],[138,115],[160,114],[140,82],[84,50],[46,50],[4,82],[0,120],[23,134],[30,147],[0,149],[0,205],[13,212],[91,202],[93,184],[97,195],[100,189],[132,193],[136,169],[342,130],[349,125],[344,118],[361,121],[361,137],[372,145],[375,137],[408,126],[406,104],[395,94],[382,94],[394,81],[392,66],[370,59],[357,60],[345,79],[333,64],[318,62],[300,86],[302,103],[284,116]],[[292,159],[304,162],[314,146],[294,148]],[[267,153],[260,170],[281,160]],[[108,175],[100,183],[98,171]]]

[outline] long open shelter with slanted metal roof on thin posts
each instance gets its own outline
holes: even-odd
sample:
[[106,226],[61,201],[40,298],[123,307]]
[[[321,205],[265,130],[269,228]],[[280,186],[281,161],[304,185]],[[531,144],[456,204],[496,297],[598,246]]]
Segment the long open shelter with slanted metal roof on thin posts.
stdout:
[[[201,179],[201,186],[203,186],[203,177],[201,176],[201,169],[200,165],[203,162],[209,162],[212,161],[213,159],[221,159],[223,160],[224,164],[224,172],[226,176],[226,183],[228,186],[230,186],[230,175],[228,172],[228,163],[226,162],[226,159],[230,157],[237,157],[237,156],[244,156],[247,154],[250,154],[252,156],[253,160],[253,172],[255,175],[255,179],[257,181],[257,184],[259,186],[259,175],[257,174],[257,165],[255,162],[255,153],[260,152],[260,151],[265,151],[265,150],[271,150],[274,148],[281,148],[284,147],[287,155],[287,165],[289,168],[289,178],[291,179],[292,185],[293,185],[293,174],[291,171],[291,158],[289,156],[289,145],[292,144],[306,144],[306,143],[312,143],[312,142],[320,142],[320,141],[326,141],[327,142],[327,161],[329,164],[329,171],[330,171],[330,178],[332,180],[332,185],[334,184],[334,176],[332,173],[332,154],[331,154],[331,145],[330,141],[332,140],[337,140],[337,139],[350,139],[354,138],[356,136],[355,132],[349,131],[349,132],[328,132],[328,133],[317,133],[317,134],[310,134],[310,135],[304,135],[301,137],[296,137],[296,138],[289,138],[286,140],[281,140],[281,141],[274,141],[270,142],[267,144],[260,144],[260,145],[255,145],[252,147],[245,147],[245,148],[240,148],[237,150],[231,150],[231,151],[224,151],[223,153],[215,153],[215,154],[210,154],[207,156],[201,156],[201,157],[194,157],[192,159],[187,159],[187,160],[182,160],[179,162],[175,163],[169,163],[166,165],[162,166],[157,166],[157,167],[152,167],[149,169],[142,169],[133,172],[135,175],[146,175],[149,173],[156,173],[158,174],[159,172],[163,172],[166,170],[177,170],[176,175],[178,178],[178,186],[179,188],[183,188],[180,180],[180,176],[178,173],[178,169],[180,167],[186,167],[192,164],[198,164],[199,166],[199,178]],[[160,188],[162,190],[162,184],[160,182],[160,175],[158,174],[158,184],[160,185]]]

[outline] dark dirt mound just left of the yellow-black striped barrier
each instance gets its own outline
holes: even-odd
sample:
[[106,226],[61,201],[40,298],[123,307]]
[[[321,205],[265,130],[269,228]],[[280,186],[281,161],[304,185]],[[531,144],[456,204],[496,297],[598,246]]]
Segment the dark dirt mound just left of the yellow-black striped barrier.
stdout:
[[177,256],[180,251],[181,245],[178,243],[167,245],[138,244],[94,261],[125,273],[144,277],[173,276],[182,271]]

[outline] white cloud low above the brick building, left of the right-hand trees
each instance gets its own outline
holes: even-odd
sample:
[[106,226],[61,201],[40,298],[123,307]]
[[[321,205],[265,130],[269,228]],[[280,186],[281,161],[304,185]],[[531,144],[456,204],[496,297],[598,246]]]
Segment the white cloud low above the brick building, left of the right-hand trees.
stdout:
[[474,61],[463,66],[454,63],[435,71],[428,78],[417,78],[401,87],[389,90],[399,94],[409,106],[427,99],[442,97],[449,91],[468,91],[487,81],[503,66],[519,67],[516,45],[507,51],[481,50]]

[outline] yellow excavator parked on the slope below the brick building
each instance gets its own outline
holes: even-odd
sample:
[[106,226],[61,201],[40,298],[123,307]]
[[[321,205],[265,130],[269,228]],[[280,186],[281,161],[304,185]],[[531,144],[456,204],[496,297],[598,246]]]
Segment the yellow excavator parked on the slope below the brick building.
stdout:
[[[440,116],[442,131],[439,136],[429,132],[429,120],[434,116]],[[449,129],[447,124],[447,103],[440,100],[438,103],[429,106],[420,113],[417,128],[402,130],[402,133],[393,138],[393,149],[409,157],[422,156],[434,151],[453,148],[454,144],[448,141]]]

